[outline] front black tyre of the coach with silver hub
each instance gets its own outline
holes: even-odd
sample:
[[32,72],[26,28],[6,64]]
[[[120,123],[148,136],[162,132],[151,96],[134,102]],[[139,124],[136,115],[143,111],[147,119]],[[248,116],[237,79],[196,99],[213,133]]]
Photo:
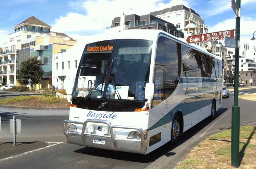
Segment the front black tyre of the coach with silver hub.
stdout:
[[181,134],[181,120],[179,119],[179,116],[175,116],[172,122],[172,128],[171,128],[171,143],[176,144],[179,140],[180,134]]

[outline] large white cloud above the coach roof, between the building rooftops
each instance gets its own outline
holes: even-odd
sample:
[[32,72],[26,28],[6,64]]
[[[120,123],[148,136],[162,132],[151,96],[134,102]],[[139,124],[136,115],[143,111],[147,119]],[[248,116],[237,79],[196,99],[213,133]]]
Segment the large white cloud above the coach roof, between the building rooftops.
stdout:
[[[66,16],[55,19],[52,26],[53,31],[58,32],[77,32],[77,31],[104,31],[111,25],[114,17],[137,14],[146,15],[152,11],[161,10],[173,5],[183,4],[191,6],[192,0],[171,0],[164,3],[162,0],[89,0],[71,1],[69,6],[72,8],[84,9],[84,13],[69,12]],[[134,5],[136,4],[136,5]],[[146,4],[146,6],[145,6]]]

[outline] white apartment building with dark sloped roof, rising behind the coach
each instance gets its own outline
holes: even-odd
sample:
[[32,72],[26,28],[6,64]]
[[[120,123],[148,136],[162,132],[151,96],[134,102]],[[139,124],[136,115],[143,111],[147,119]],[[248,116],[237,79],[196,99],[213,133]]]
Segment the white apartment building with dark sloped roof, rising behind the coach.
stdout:
[[184,33],[185,39],[190,35],[208,32],[208,26],[205,25],[205,21],[200,15],[184,5],[172,6],[150,14],[173,23],[177,30]]

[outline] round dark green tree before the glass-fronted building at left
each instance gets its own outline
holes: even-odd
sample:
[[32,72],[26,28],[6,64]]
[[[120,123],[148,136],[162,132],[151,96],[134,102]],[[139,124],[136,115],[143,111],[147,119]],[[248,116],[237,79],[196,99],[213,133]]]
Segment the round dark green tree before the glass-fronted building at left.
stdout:
[[28,60],[21,62],[20,67],[20,82],[28,84],[30,78],[32,84],[38,84],[43,78],[42,62],[37,59],[37,56],[32,56]]

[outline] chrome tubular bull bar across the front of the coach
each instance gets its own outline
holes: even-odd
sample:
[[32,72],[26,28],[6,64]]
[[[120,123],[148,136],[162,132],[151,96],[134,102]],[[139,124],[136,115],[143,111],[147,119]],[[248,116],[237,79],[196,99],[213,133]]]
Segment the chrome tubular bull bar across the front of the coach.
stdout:
[[[109,135],[97,135],[97,134],[85,134],[84,132],[85,132],[85,128],[86,128],[86,125],[87,125],[88,122],[91,122],[91,123],[101,123],[101,124],[108,125],[108,128],[110,129],[110,136]],[[68,131],[68,129],[66,131],[65,123],[73,123],[73,124],[83,125],[81,134],[80,133],[75,133],[75,132],[72,132],[72,131]],[[140,132],[140,135],[141,135],[141,138],[140,138],[140,149],[141,149],[141,152],[145,152],[145,150],[146,150],[145,146],[146,145],[145,145],[145,139],[144,139],[144,131],[141,128],[130,127],[130,126],[121,126],[121,125],[112,125],[109,121],[107,121],[107,120],[100,120],[100,119],[87,119],[84,123],[83,122],[72,121],[72,120],[64,120],[63,124],[62,124],[63,133],[66,136],[68,136],[68,133],[72,133],[72,134],[76,134],[76,135],[81,135],[81,139],[82,139],[84,145],[86,145],[86,141],[85,140],[86,140],[87,136],[99,136],[99,137],[111,138],[113,146],[115,148],[117,148],[117,139],[116,139],[115,134],[114,134],[114,130],[113,130],[114,128],[138,130]]]

